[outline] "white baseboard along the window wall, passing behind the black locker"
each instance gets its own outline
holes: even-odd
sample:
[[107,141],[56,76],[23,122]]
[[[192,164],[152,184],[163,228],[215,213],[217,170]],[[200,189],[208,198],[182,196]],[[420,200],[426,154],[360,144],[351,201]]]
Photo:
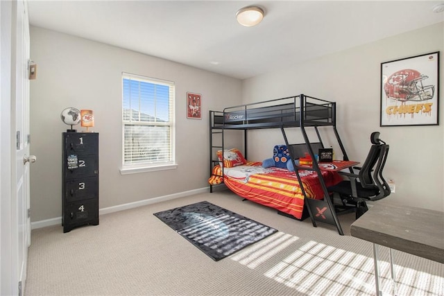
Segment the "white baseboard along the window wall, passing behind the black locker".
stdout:
[[[170,195],[159,196],[157,198],[149,198],[148,200],[139,200],[138,202],[130,202],[128,204],[119,204],[114,207],[105,207],[103,209],[99,209],[99,216],[104,214],[114,213],[116,211],[123,211],[126,209],[133,209],[135,207],[142,207],[148,204],[155,204],[157,202],[164,202],[167,200],[174,200],[176,198],[184,198],[185,196],[194,195],[198,193],[210,192],[209,187],[204,187],[201,189],[194,189],[190,191],[183,191],[180,193],[174,193]],[[47,226],[53,225],[62,225],[62,217],[51,218],[46,220],[35,221],[31,223],[31,229],[37,229]]]

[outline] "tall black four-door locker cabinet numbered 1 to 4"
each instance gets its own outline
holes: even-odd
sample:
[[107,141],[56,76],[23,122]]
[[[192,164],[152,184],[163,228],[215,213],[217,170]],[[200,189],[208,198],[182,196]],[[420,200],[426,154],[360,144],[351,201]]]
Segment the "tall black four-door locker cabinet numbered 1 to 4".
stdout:
[[99,133],[64,132],[62,146],[63,232],[99,225]]

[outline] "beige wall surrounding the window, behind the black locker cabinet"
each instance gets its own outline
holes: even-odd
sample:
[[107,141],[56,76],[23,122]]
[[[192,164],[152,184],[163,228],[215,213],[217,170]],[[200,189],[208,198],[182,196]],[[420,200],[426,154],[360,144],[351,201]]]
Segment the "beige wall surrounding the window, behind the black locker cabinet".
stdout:
[[[241,80],[36,27],[31,27],[31,58],[38,64],[37,80],[31,81],[31,154],[38,159],[31,168],[33,222],[62,214],[65,107],[94,110],[101,209],[207,186],[207,113],[237,105]],[[122,71],[176,82],[176,170],[119,173]],[[187,92],[202,94],[202,120],[187,119]]]

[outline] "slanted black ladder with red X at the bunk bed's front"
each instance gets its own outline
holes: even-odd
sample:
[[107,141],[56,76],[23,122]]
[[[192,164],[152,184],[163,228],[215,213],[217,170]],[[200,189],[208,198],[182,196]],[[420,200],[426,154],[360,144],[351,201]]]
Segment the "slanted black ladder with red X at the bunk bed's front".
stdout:
[[[345,148],[343,147],[343,143],[341,141],[341,138],[339,137],[339,134],[336,130],[336,126],[333,125],[332,128],[334,130],[336,140],[338,141],[339,146],[341,148],[341,152],[343,153],[343,158],[344,158],[344,160],[348,160],[347,153],[345,153]],[[318,136],[319,142],[322,143],[321,134],[318,131],[318,127],[314,126],[314,129],[316,130],[316,134]],[[310,141],[307,136],[305,126],[303,124],[300,125],[300,130],[302,132],[302,136],[304,137],[305,143],[307,145],[307,150],[309,151],[309,155],[311,156],[311,159],[315,159],[315,156],[314,156],[315,153],[314,153],[313,149],[311,149],[311,146],[309,145]],[[281,127],[281,132],[282,132],[282,136],[284,137],[284,141],[285,141],[287,147],[289,147],[290,145],[289,145],[289,141],[287,139],[287,134],[285,134],[284,127]],[[291,153],[291,151],[290,151],[290,153]],[[322,187],[323,193],[324,193],[323,200],[315,200],[313,198],[307,198],[307,193],[305,193],[305,189],[302,186],[302,180],[299,175],[300,170],[307,170],[307,168],[298,168],[298,166],[296,166],[296,163],[294,162],[293,155],[291,155],[291,161],[293,162],[293,167],[295,168],[296,177],[298,178],[298,182],[300,184],[300,189],[301,189],[302,194],[304,195],[304,198],[305,198],[304,204],[305,204],[305,207],[307,207],[307,211],[309,213],[309,216],[311,218],[311,223],[313,223],[313,226],[317,227],[316,222],[325,223],[328,225],[333,225],[333,226],[336,226],[336,229],[338,230],[339,234],[341,234],[341,236],[344,235],[342,227],[341,227],[341,223],[339,223],[339,219],[336,215],[336,210],[334,209],[333,201],[330,198],[330,195],[328,194],[327,186],[325,185],[325,182],[323,180],[321,170],[319,169],[318,163],[313,162],[312,170],[315,171],[316,174],[318,175],[318,180],[319,180],[319,183],[321,184],[321,187]],[[351,170],[351,168],[350,168],[350,170]]]

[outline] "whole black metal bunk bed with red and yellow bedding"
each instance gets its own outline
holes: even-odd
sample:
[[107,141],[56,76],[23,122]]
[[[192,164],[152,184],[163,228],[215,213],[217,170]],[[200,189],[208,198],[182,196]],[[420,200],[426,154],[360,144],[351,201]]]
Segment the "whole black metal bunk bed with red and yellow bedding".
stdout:
[[[339,234],[343,235],[334,204],[327,192],[327,186],[340,182],[341,177],[337,173],[321,170],[317,162],[307,167],[300,166],[297,160],[305,153],[310,155],[311,159],[315,159],[317,149],[324,147],[319,132],[321,127],[329,127],[333,130],[343,160],[348,161],[336,130],[336,103],[334,102],[300,94],[226,107],[223,111],[210,110],[210,192],[213,192],[214,185],[224,183],[241,197],[273,207],[283,214],[301,220],[304,218],[302,213],[305,209],[314,227],[317,226],[316,222],[327,223],[336,226]],[[260,166],[260,162],[249,162],[247,131],[270,128],[278,128],[282,132],[284,143],[289,148],[293,172],[283,168],[264,169]],[[303,143],[289,143],[287,133],[294,132],[295,129],[292,128],[300,130]],[[314,143],[310,142],[307,134],[307,130],[311,128],[316,132],[317,139]],[[227,165],[223,157],[223,152],[229,150],[225,147],[224,139],[228,130],[244,132],[244,155],[236,151],[241,161],[232,167]],[[264,189],[264,187],[270,187],[269,184],[272,182],[268,182],[259,191],[257,188],[253,189],[262,182],[260,180],[269,181],[270,178],[278,185]],[[253,182],[255,182],[254,185],[252,185]],[[289,187],[292,189],[290,190]],[[284,192],[278,192],[280,189]],[[273,192],[273,194],[264,198],[268,194],[265,191]]]

